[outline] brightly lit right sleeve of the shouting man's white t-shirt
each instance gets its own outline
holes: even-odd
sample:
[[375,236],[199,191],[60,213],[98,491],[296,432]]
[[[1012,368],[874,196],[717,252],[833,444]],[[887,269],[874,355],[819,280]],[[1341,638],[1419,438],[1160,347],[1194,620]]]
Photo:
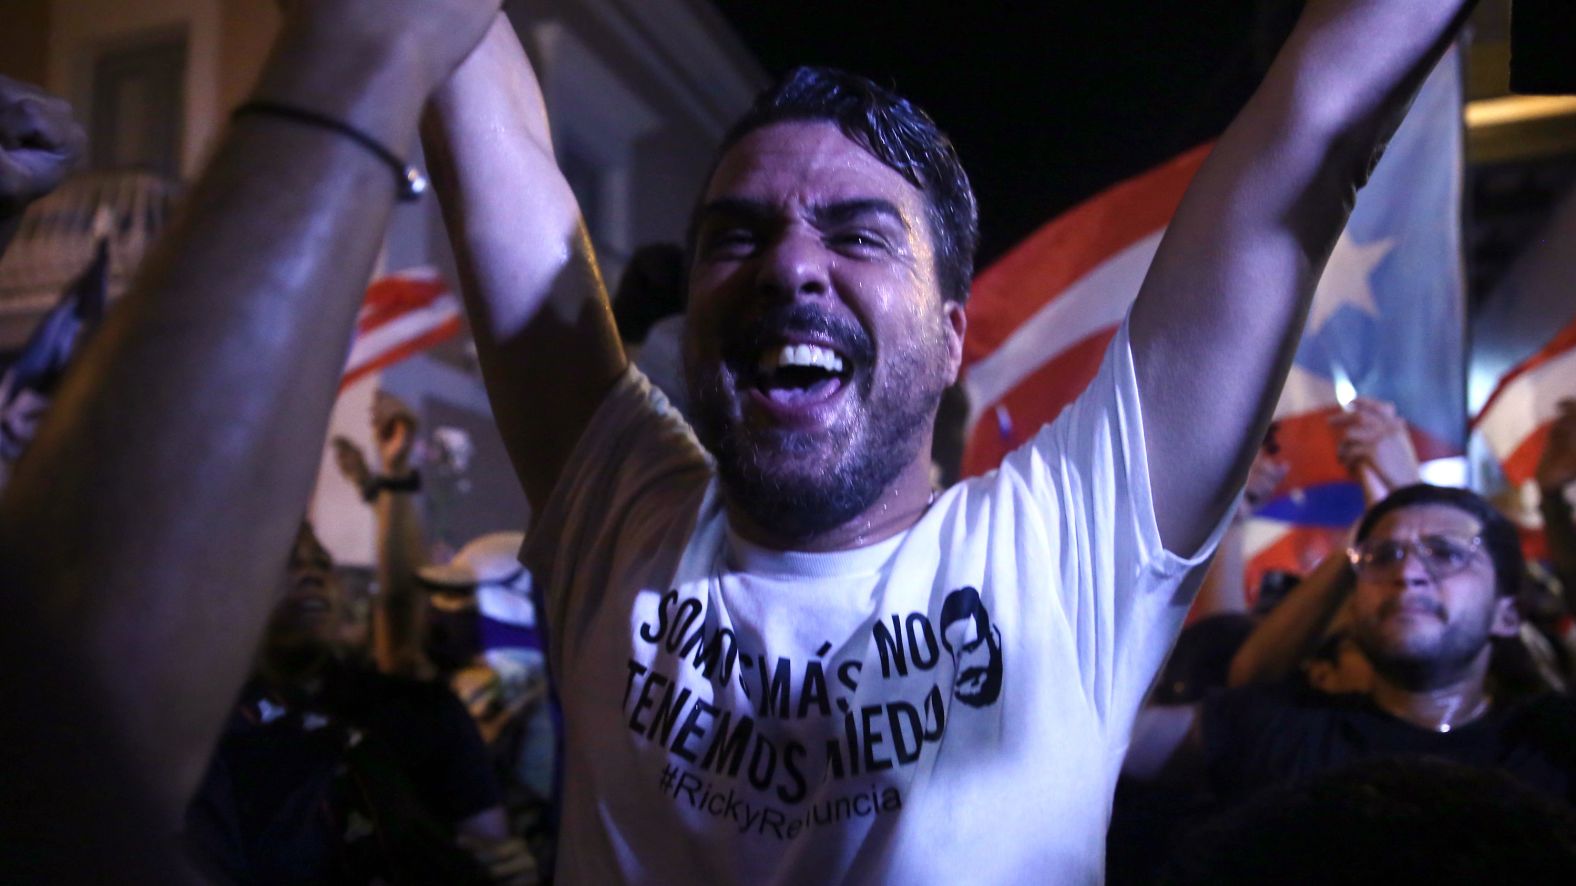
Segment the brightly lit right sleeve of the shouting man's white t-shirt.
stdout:
[[1072,637],[1091,702],[1125,743],[1229,520],[1198,550],[1162,544],[1127,322],[1089,388],[1002,460],[993,489],[1018,544],[1050,552],[1051,586],[1026,591],[1054,594],[1051,629]]

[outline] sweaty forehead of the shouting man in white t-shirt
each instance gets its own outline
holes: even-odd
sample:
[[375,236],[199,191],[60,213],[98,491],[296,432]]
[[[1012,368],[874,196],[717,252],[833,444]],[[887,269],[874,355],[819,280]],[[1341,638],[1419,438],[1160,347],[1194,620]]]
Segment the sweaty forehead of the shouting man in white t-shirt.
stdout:
[[924,195],[895,169],[827,121],[774,123],[745,134],[722,154],[706,202],[834,203],[884,199],[905,214]]

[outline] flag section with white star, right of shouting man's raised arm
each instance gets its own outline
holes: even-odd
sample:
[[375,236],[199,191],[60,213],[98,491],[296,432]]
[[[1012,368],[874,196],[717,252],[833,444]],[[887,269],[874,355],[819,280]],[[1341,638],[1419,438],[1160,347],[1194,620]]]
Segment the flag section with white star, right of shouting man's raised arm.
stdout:
[[1388,400],[1422,460],[1463,454],[1461,68],[1445,55],[1357,199],[1275,410],[1291,465],[1248,528],[1250,586],[1307,571],[1363,511],[1329,419],[1354,396]]

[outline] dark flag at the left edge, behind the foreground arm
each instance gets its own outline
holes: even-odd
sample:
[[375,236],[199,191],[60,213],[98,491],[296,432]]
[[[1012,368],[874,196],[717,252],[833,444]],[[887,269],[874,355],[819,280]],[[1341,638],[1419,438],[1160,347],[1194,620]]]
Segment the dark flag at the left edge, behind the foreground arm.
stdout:
[[87,270],[39,320],[22,353],[0,374],[0,462],[14,462],[33,441],[55,385],[71,356],[104,317],[109,241],[99,240]]

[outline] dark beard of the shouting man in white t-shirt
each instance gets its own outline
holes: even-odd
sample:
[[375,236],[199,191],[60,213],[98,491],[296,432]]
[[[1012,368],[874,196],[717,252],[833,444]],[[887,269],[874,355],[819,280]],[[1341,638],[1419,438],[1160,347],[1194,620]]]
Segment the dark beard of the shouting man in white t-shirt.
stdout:
[[[857,345],[838,344],[857,352]],[[946,388],[944,352],[901,348],[879,386],[873,361],[856,366],[845,383],[854,386],[849,396],[859,397],[865,408],[853,423],[826,430],[736,424],[725,377],[716,370],[686,374],[695,434],[717,460],[728,501],[756,525],[786,539],[808,539],[842,527],[875,504],[928,443]],[[826,454],[840,457],[827,463],[821,457]]]

